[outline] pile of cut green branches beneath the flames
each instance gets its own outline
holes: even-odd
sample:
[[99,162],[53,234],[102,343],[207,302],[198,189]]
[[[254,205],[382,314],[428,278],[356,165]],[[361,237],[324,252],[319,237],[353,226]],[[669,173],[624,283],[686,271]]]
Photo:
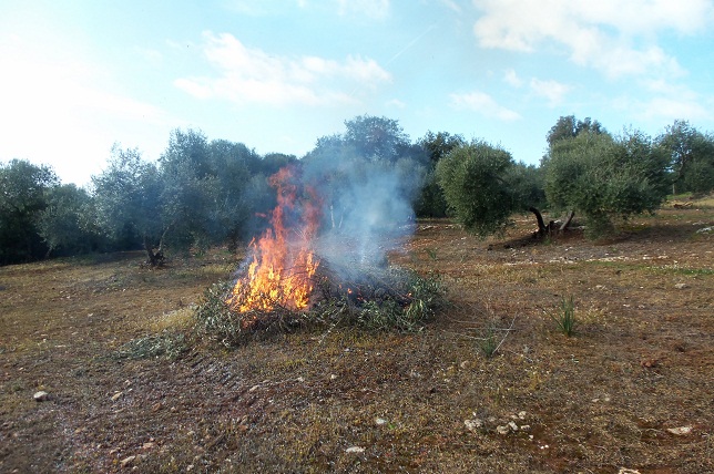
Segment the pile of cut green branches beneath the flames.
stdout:
[[227,302],[235,281],[218,282],[206,290],[196,309],[196,329],[226,346],[305,327],[416,331],[446,303],[438,277],[396,267],[343,268],[323,260],[313,278],[313,295],[304,310],[276,303],[271,310],[238,311],[235,299]]

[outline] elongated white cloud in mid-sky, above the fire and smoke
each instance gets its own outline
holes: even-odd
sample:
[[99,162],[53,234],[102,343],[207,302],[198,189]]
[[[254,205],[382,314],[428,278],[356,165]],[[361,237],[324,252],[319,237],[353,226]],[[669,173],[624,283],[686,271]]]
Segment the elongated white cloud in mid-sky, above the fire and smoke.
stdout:
[[203,52],[215,78],[181,78],[174,85],[198,99],[222,97],[236,103],[332,105],[354,103],[346,86],[374,89],[391,75],[371,59],[344,61],[318,56],[286,58],[247,48],[228,33],[204,33]]

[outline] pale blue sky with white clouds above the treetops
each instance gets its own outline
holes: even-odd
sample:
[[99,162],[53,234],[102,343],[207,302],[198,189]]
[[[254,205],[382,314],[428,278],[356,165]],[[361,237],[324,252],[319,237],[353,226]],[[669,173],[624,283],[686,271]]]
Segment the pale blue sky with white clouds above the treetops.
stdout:
[[369,114],[532,164],[562,115],[714,131],[712,0],[3,0],[0,64],[0,162],[80,185],[174,128],[302,156]]

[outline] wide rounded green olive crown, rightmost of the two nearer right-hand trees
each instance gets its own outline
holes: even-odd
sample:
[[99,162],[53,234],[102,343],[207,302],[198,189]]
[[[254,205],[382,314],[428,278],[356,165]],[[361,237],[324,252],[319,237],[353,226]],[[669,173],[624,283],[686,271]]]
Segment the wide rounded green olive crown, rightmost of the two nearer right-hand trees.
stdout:
[[654,212],[666,196],[666,156],[640,132],[613,138],[581,133],[557,142],[545,168],[545,194],[559,209],[589,221],[591,236],[612,228],[615,217]]

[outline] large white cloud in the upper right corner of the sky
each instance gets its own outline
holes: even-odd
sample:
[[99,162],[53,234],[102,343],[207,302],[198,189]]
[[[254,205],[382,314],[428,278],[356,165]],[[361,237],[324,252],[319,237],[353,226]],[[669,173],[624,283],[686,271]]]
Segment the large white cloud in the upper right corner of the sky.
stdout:
[[482,48],[532,52],[554,43],[570,59],[618,78],[662,71],[680,74],[657,33],[702,31],[714,20],[711,0],[473,0],[482,16],[473,32]]

